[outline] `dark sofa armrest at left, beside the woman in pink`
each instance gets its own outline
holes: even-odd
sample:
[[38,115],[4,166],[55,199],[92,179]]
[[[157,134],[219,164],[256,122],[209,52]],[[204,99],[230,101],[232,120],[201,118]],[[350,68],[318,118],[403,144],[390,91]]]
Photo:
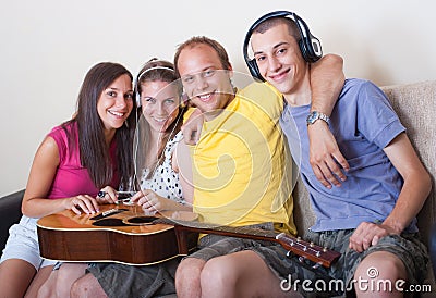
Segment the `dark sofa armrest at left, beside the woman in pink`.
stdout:
[[0,251],[3,250],[9,237],[9,227],[17,223],[21,213],[21,202],[24,189],[0,198]]

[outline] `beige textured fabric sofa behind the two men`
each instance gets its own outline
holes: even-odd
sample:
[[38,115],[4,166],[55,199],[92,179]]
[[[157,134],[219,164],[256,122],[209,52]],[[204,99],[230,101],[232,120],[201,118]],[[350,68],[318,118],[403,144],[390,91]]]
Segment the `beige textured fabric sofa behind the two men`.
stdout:
[[[436,218],[436,80],[386,86],[383,90],[407,127],[409,138],[432,175],[433,189],[419,214],[419,227],[423,240],[428,244],[429,229]],[[300,178],[293,196],[295,224],[299,233],[304,236],[314,222],[314,214],[310,207],[307,190]],[[431,268],[428,270],[432,273]],[[428,275],[428,283],[431,282],[434,284],[433,274]],[[435,294],[436,287],[433,287],[431,295]]]

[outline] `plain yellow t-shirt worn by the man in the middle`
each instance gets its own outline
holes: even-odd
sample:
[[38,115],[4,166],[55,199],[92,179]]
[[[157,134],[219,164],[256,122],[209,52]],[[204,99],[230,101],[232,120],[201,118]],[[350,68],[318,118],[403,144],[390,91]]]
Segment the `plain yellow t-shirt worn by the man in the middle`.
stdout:
[[280,94],[253,83],[205,122],[193,157],[194,212],[219,225],[281,224],[292,234],[291,158]]

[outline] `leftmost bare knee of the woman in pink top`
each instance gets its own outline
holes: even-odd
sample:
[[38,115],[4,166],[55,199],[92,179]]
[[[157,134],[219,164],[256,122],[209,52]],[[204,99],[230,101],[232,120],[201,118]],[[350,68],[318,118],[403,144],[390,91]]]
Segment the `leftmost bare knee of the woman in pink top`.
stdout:
[[0,289],[3,297],[24,297],[36,269],[20,259],[9,259],[0,264]]

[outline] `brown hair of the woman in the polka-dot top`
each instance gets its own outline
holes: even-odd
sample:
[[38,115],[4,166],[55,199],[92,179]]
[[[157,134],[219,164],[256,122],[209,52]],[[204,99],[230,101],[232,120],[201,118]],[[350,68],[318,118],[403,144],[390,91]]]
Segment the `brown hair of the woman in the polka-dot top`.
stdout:
[[[149,172],[147,175],[147,179],[153,176],[153,170],[156,169],[158,165],[162,164],[164,162],[164,151],[165,147],[169,139],[173,138],[179,132],[183,124],[183,114],[185,112],[185,108],[182,104],[181,94],[182,94],[182,85],[180,80],[178,80],[178,76],[174,72],[174,66],[171,62],[166,60],[159,60],[157,58],[150,59],[148,62],[140,71],[138,77],[136,79],[136,96],[141,95],[142,87],[141,85],[147,82],[166,82],[175,84],[178,88],[178,95],[180,97],[180,104],[179,104],[179,113],[177,117],[172,121],[172,123],[167,127],[164,133],[161,142],[158,147],[157,159],[156,161],[149,165]],[[142,109],[140,110],[140,114],[142,115]],[[148,122],[141,116],[138,122],[138,129],[141,129],[141,136],[138,141],[140,148],[144,150],[144,152],[138,152],[138,157],[136,158],[137,164],[140,166],[145,165],[146,154],[149,152],[150,144],[149,144],[149,136],[150,136],[150,128]]]

